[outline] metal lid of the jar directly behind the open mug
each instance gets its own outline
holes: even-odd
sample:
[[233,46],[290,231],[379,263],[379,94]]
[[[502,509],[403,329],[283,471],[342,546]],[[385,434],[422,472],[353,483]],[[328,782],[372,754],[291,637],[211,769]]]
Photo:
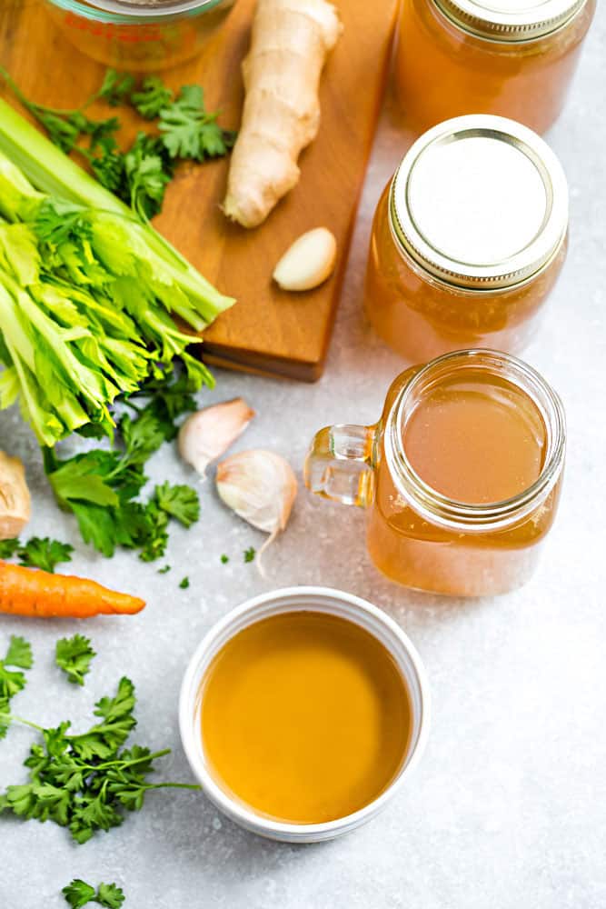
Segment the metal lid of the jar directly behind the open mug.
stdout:
[[568,185],[539,135],[501,116],[434,126],[412,145],[390,191],[397,245],[449,285],[517,285],[539,272],[568,229]]

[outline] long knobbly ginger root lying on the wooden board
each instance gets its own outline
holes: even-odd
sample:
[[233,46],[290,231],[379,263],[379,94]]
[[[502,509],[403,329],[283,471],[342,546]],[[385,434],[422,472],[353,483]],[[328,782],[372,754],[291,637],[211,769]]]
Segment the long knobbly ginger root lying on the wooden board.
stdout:
[[298,182],[297,159],[320,125],[320,75],[341,31],[326,0],[259,0],[223,205],[243,227],[260,225]]

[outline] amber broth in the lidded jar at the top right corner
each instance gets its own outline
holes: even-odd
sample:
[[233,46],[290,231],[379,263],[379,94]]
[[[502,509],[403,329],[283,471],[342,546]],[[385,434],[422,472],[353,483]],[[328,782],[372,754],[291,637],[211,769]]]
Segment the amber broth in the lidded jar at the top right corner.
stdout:
[[452,116],[498,114],[543,133],[565,101],[594,10],[589,0],[551,35],[499,42],[465,32],[432,0],[403,0],[394,64],[403,114],[419,132]]

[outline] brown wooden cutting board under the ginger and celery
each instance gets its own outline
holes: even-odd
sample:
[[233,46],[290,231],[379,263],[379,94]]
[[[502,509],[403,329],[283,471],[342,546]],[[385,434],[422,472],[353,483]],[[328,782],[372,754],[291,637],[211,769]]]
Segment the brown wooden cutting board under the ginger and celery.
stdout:
[[[236,0],[224,25],[194,61],[164,72],[178,88],[198,82],[206,105],[237,127],[243,101],[240,63],[255,0]],[[204,333],[204,359],[249,372],[314,381],[323,373],[348,247],[388,69],[398,0],[341,0],[344,31],[321,87],[320,134],[300,158],[301,180],[260,227],[227,222],[220,204],[228,163],[183,165],[157,228],[225,294],[238,302]],[[2,0],[0,62],[25,95],[55,107],[82,103],[100,85],[104,65],[82,55],[55,27],[42,0]],[[0,80],[0,94],[5,92]],[[144,123],[118,113],[128,141]],[[93,110],[95,108],[92,108]],[[273,285],[273,266],[293,240],[313,227],[337,238],[338,264],[322,287],[288,294]]]

